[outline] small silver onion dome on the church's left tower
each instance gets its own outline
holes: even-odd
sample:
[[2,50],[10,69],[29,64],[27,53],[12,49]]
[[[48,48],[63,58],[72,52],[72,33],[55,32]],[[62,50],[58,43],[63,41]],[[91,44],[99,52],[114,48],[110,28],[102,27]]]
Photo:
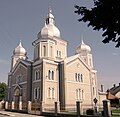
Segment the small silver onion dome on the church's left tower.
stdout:
[[25,56],[27,54],[26,50],[23,48],[22,43],[20,41],[19,45],[14,50],[14,55],[22,55]]

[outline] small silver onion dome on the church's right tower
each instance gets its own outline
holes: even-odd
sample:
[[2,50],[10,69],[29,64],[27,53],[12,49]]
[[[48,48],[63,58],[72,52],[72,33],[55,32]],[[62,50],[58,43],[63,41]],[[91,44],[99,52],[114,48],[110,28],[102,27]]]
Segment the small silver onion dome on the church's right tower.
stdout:
[[79,53],[90,53],[91,52],[91,48],[86,45],[83,40],[81,42],[81,44],[77,47],[76,52]]

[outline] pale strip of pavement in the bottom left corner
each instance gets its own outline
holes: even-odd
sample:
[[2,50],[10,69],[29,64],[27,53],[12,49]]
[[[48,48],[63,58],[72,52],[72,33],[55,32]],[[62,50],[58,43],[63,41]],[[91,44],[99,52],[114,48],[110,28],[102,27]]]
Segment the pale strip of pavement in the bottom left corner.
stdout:
[[[8,116],[11,116],[11,117],[38,117],[38,115],[31,115],[31,114],[24,114],[24,113],[0,110],[0,117],[8,117]],[[39,117],[45,117],[45,116],[39,115]]]

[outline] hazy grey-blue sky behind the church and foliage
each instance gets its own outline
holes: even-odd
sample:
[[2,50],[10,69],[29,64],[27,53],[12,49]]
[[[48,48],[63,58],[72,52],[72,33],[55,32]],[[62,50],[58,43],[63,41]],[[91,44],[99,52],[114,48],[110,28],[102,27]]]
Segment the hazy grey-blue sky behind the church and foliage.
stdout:
[[74,55],[83,36],[92,49],[97,80],[105,89],[119,84],[120,48],[102,43],[102,31],[93,31],[87,23],[78,22],[74,5],[93,7],[93,0],[0,0],[0,82],[6,82],[14,48],[22,41],[29,59],[33,59],[32,42],[44,26],[48,8],[55,16],[61,38],[68,41],[68,56]]

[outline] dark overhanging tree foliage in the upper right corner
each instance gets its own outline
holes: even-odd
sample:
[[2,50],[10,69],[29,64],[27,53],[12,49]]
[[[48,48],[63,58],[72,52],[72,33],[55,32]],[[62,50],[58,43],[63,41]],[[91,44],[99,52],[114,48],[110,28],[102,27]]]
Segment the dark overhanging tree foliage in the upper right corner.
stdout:
[[120,0],[93,0],[94,7],[87,9],[75,5],[75,13],[81,15],[79,22],[88,22],[93,30],[103,30],[103,43],[113,41],[120,46]]

